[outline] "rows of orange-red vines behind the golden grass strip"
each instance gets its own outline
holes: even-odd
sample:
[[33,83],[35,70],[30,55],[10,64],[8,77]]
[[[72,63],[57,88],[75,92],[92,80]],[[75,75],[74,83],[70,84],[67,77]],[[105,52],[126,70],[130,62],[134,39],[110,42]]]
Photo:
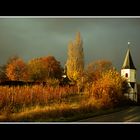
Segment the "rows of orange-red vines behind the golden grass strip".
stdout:
[[24,107],[36,105],[48,105],[51,102],[67,98],[77,94],[76,87],[2,87],[0,86],[0,112],[10,109],[12,112],[19,111]]

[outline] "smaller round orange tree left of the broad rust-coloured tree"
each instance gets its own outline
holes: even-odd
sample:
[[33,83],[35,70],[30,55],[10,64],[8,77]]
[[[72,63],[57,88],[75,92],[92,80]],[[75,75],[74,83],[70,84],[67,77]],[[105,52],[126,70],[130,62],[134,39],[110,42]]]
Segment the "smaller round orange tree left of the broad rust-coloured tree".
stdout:
[[10,80],[25,81],[28,77],[27,65],[19,57],[12,57],[6,65],[6,76]]

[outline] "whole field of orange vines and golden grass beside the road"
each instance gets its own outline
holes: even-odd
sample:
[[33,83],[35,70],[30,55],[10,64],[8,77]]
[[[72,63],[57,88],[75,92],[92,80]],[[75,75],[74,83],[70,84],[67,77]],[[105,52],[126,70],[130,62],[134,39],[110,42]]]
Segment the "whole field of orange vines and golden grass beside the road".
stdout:
[[0,87],[1,122],[77,121],[112,111],[74,86]]

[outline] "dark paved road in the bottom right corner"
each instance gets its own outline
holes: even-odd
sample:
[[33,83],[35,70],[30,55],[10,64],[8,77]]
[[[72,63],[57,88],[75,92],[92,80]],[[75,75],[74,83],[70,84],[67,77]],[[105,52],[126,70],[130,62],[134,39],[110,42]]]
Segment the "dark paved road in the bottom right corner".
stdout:
[[140,122],[140,106],[81,120],[80,122]]

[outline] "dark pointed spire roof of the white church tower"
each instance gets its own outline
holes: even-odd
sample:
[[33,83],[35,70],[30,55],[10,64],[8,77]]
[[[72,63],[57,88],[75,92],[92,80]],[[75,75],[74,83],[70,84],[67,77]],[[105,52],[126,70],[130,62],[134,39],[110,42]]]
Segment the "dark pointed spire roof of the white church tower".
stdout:
[[130,54],[130,49],[127,50],[122,69],[136,69]]

